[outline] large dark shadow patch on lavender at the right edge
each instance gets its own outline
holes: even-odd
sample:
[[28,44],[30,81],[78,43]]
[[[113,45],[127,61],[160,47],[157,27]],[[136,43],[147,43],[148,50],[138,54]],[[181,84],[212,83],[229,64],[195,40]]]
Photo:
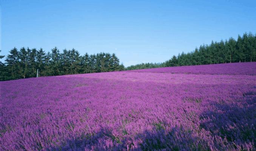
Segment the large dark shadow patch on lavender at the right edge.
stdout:
[[230,103],[210,103],[211,109],[200,115],[200,129],[222,139],[222,146],[238,150],[255,149],[256,96],[243,94],[243,99]]

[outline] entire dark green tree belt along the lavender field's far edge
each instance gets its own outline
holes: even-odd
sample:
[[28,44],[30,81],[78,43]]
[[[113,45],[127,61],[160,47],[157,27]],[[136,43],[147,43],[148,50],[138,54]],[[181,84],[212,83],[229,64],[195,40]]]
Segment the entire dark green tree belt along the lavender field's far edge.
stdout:
[[[3,57],[0,55],[0,59]],[[76,49],[60,52],[55,47],[46,53],[42,48],[22,47],[18,51],[14,47],[6,56],[5,63],[0,62],[0,80],[36,77],[37,69],[39,76],[52,76],[232,62],[256,62],[256,34],[245,33],[242,37],[238,35],[237,40],[231,37],[225,42],[212,41],[210,45],[201,45],[187,54],[173,55],[163,63],[141,63],[127,68],[120,64],[115,54],[100,52],[81,56]]]

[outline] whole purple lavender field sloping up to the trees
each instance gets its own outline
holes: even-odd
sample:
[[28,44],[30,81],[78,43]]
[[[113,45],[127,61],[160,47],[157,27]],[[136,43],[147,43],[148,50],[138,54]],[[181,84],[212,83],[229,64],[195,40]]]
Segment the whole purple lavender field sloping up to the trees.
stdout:
[[0,82],[1,151],[254,151],[256,62]]

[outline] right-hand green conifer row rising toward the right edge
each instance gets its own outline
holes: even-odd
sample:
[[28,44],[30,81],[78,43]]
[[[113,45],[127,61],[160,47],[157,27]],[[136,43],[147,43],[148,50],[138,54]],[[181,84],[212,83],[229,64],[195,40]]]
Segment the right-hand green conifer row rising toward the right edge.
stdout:
[[173,57],[163,63],[141,63],[128,66],[126,70],[159,68],[169,66],[208,65],[216,63],[256,62],[256,34],[244,33],[237,40],[232,37],[210,45],[200,45],[192,52]]

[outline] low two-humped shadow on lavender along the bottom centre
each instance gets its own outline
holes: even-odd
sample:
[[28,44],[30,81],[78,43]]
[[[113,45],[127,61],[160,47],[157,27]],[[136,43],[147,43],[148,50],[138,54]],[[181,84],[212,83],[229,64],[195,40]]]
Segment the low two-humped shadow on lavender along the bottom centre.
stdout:
[[[139,140],[139,141],[138,141]],[[134,138],[129,136],[122,139],[114,136],[110,128],[102,128],[93,135],[80,136],[66,140],[61,146],[50,146],[46,151],[153,151],[153,150],[205,150],[210,151],[207,142],[195,137],[192,131],[182,127],[166,131],[163,127],[155,126],[145,130]]]

